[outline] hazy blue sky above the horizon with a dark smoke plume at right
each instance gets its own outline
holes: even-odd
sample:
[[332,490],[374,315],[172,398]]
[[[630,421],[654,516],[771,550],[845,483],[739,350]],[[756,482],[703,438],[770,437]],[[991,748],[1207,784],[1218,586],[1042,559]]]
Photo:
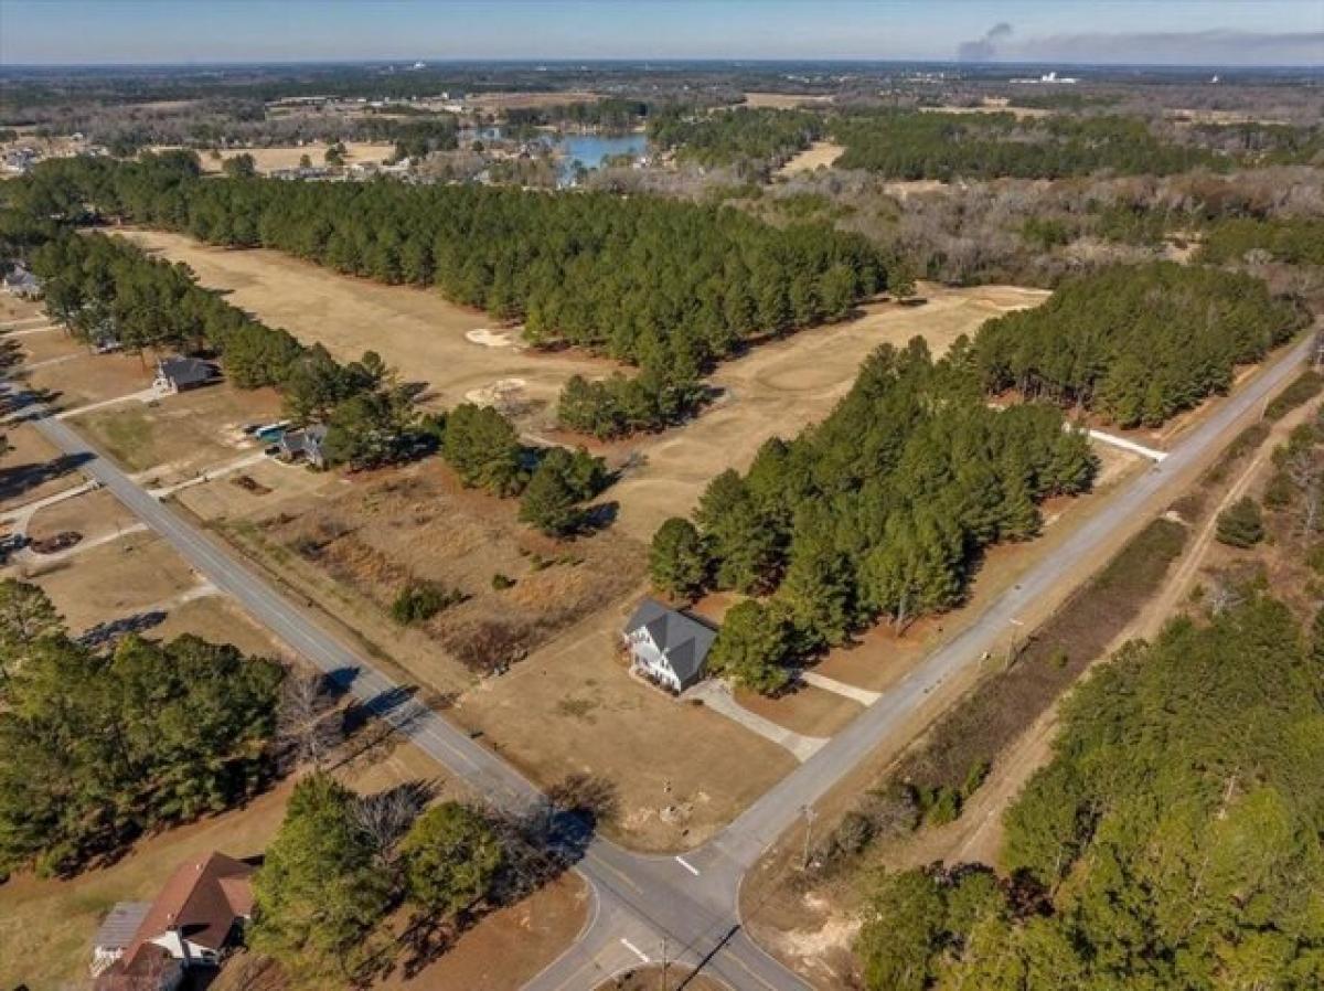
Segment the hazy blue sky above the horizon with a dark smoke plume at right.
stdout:
[[3,65],[957,52],[1324,65],[1324,0],[0,0]]

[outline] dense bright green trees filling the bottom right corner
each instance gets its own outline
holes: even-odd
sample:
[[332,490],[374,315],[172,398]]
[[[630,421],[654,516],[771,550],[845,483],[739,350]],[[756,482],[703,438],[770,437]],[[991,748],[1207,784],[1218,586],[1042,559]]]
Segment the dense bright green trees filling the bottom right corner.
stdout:
[[876,991],[1324,984],[1324,624],[1279,601],[1176,620],[1068,701],[981,865],[875,882]]

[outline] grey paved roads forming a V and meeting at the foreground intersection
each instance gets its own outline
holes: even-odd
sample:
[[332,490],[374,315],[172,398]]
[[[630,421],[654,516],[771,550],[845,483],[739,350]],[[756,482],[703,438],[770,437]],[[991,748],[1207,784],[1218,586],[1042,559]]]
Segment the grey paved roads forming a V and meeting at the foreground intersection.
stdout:
[[[1017,616],[1045,599],[1061,598],[1119,533],[1139,526],[1161,498],[1174,497],[1239,424],[1262,415],[1263,404],[1300,368],[1313,339],[1287,352],[1219,403],[1166,457],[1108,497],[1088,522],[1051,556],[1034,564],[968,628],[854,722],[745,808],[704,845],[683,856],[642,855],[593,837],[576,864],[591,889],[589,921],[575,945],[526,987],[530,991],[591,991],[612,975],[663,959],[681,968],[702,966],[736,991],[804,991],[808,984],[764,953],[740,918],[740,882],[763,853],[880,745],[896,742],[910,713],[949,678],[977,665],[1005,643]],[[306,611],[213,541],[199,526],[143,490],[93,449],[66,423],[29,407],[36,429],[60,450],[86,458],[81,470],[109,489],[147,526],[169,542],[205,579],[234,598],[260,623],[359,702],[392,723],[475,794],[512,811],[543,803],[538,788],[466,733],[409,697],[360,653],[346,647]]]

